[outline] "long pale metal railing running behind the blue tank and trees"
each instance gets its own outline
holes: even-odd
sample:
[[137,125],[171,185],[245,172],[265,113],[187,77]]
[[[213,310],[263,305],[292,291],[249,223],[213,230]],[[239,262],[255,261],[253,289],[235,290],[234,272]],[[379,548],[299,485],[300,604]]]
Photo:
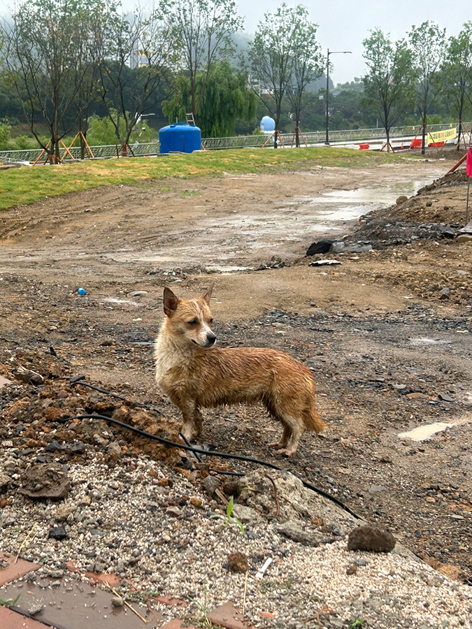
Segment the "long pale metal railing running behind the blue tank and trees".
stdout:
[[[446,124],[431,124],[428,126],[429,131],[445,131],[445,129],[451,129],[454,123]],[[468,125],[465,125],[466,127]],[[390,129],[390,138],[409,138],[415,136],[421,130],[421,125],[415,126],[394,126]],[[458,125],[457,125],[458,130]],[[303,133],[308,145],[316,145],[324,142],[326,136],[325,131],[309,131]],[[273,140],[267,142],[269,136],[233,136],[230,138],[203,138],[201,141],[203,147],[206,150],[223,150],[223,149],[241,149],[241,148],[261,148],[266,143],[266,148],[273,147]],[[285,146],[292,144],[293,133],[282,133],[281,138]],[[300,138],[301,140],[301,138]],[[384,129],[345,129],[343,131],[330,131],[330,142],[355,142],[362,140],[385,140]],[[106,146],[92,146],[92,153],[95,159],[107,159],[110,157],[117,157],[119,146],[106,145]],[[132,153],[136,157],[156,156],[159,154],[159,142],[148,142],[138,145],[131,145]],[[80,159],[80,147],[73,147],[70,152],[74,159]],[[62,148],[61,154],[64,153]],[[129,152],[129,155],[132,156]],[[0,162],[29,162],[33,163],[38,159],[41,154],[41,149],[24,149],[20,151],[0,151]],[[38,161],[42,164],[46,155],[43,154],[41,160]],[[71,159],[68,155],[64,158]]]

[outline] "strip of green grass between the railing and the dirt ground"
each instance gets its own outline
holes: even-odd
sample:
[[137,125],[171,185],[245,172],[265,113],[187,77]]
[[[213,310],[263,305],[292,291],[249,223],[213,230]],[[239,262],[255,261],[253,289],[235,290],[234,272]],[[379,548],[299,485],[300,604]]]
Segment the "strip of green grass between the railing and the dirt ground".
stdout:
[[224,173],[275,172],[313,166],[352,168],[394,163],[401,157],[345,148],[309,147],[294,150],[244,149],[65,163],[60,166],[11,168],[0,173],[0,210],[34,203],[98,186],[135,184],[180,177],[217,177]]

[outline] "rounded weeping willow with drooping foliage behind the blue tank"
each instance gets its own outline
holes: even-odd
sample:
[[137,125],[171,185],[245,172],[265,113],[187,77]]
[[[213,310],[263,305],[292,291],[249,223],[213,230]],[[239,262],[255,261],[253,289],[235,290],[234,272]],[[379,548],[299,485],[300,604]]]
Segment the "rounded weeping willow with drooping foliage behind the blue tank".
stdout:
[[[234,136],[236,120],[251,122],[255,119],[257,100],[248,88],[248,76],[233,68],[228,61],[213,64],[208,76],[196,75],[195,95],[199,99],[199,126],[205,138]],[[173,122],[183,120],[192,103],[189,76],[179,73],[171,99],[163,103],[164,114]]]

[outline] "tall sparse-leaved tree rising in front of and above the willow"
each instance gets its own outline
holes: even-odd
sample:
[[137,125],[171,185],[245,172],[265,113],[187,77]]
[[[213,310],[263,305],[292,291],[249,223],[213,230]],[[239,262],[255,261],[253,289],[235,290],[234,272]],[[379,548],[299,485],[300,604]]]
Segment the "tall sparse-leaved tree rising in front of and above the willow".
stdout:
[[201,126],[213,65],[234,53],[232,35],[243,28],[243,18],[237,15],[234,0],[162,0],[161,6],[180,68],[175,89],[182,90],[183,77],[188,78],[187,107]]

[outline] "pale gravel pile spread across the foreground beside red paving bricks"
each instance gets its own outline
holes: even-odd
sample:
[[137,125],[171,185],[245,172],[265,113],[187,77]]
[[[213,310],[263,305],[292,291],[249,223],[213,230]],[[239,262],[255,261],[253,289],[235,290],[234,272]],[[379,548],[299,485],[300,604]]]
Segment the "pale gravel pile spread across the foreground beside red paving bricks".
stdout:
[[[0,473],[15,482],[27,463],[10,453],[0,449]],[[399,554],[350,552],[347,538],[302,546],[278,533],[276,521],[245,526],[243,535],[224,516],[211,517],[216,503],[194,484],[145,456],[123,457],[113,469],[74,463],[69,477],[71,491],[59,503],[34,502],[14,488],[3,494],[10,504],[0,509],[0,550],[17,552],[36,525],[23,558],[56,577],[71,561],[120,575],[124,593],[133,585],[143,595],[193,600],[180,612],[157,605],[169,619],[184,614],[196,621],[205,609],[233,600],[258,627],[336,629],[357,619],[379,629],[472,626],[469,586]],[[48,537],[57,526],[68,539]],[[246,591],[245,574],[227,565],[236,551],[248,556]],[[273,563],[259,580],[268,557]],[[346,574],[353,563],[357,572]]]

